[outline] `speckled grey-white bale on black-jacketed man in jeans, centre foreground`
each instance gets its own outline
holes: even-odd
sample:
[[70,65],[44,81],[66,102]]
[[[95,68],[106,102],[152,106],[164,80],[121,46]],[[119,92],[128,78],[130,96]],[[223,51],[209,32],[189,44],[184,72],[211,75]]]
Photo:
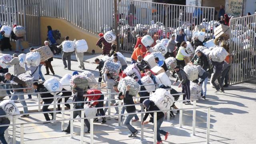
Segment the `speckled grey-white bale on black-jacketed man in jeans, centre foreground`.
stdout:
[[140,91],[140,85],[138,84],[138,82],[136,82],[133,78],[129,76],[126,76],[125,78],[122,78],[119,81],[117,87],[119,92],[125,94],[127,85],[130,85],[129,94],[132,96],[137,96],[138,92]]

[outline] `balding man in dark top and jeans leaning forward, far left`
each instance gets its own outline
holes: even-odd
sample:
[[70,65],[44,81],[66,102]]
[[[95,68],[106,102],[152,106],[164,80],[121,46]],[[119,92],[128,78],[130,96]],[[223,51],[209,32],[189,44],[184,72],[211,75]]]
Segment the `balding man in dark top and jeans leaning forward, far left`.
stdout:
[[[22,80],[20,80],[18,77],[10,74],[9,72],[6,73],[4,75],[4,77],[6,78],[6,80],[10,80],[11,86],[12,88],[24,88],[24,89],[20,89],[20,90],[13,90],[13,95],[11,96],[10,100],[17,100],[17,97],[19,98],[20,103],[22,104],[23,110],[24,110],[24,114],[22,116],[20,116],[21,118],[26,118],[29,116],[28,113],[28,107],[24,98],[24,92],[26,92],[26,83]],[[17,94],[17,95],[16,95]]]

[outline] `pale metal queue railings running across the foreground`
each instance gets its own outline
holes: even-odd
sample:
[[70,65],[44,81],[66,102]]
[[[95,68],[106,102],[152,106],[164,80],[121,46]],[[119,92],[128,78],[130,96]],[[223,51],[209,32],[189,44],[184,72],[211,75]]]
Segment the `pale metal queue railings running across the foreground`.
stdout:
[[[168,90],[168,89],[167,89]],[[47,93],[47,92],[41,92],[41,93]],[[98,94],[90,94],[90,95],[98,95]],[[85,95],[85,96],[90,96],[90,95]],[[173,95],[180,95],[180,94],[173,94]],[[56,98],[56,93],[54,94],[55,98]],[[55,99],[54,98],[54,99]],[[136,98],[136,97],[135,97]],[[146,98],[146,97],[144,97]],[[48,98],[41,98],[41,99],[48,99]],[[116,99],[108,99],[108,100],[116,100]],[[54,100],[56,102],[56,100]],[[85,101],[85,102],[96,102],[96,101],[106,101],[106,100],[94,100],[94,101]],[[182,127],[182,110],[193,110],[193,122],[192,122],[192,125],[193,125],[193,128],[192,128],[192,134],[195,135],[195,124],[196,124],[196,109],[202,109],[202,108],[208,108],[208,113],[207,113],[207,131],[206,131],[206,142],[209,143],[209,136],[210,136],[210,107],[198,107],[196,108],[196,100],[193,100],[193,108],[182,108],[182,102],[184,102],[186,100],[178,100],[178,101],[175,101],[175,102],[180,102],[180,109],[175,109],[175,110],[180,110],[180,128]],[[148,112],[143,112],[144,110],[144,107],[143,107],[143,104],[132,104],[132,105],[121,105],[121,100],[119,100],[119,105],[118,106],[105,106],[105,107],[99,107],[99,108],[114,108],[114,107],[118,107],[118,111],[119,111],[119,114],[117,115],[106,115],[106,116],[95,116],[95,117],[84,117],[84,109],[81,110],[81,118],[73,118],[73,114],[72,112],[73,111],[76,111],[76,110],[73,110],[72,108],[72,105],[74,103],[81,103],[81,102],[64,102],[64,97],[62,97],[62,103],[59,103],[62,105],[62,110],[61,111],[56,111],[56,103],[54,102],[54,104],[43,104],[41,106],[44,106],[44,105],[54,105],[54,110],[52,112],[54,112],[54,115],[56,114],[56,112],[62,112],[62,119],[61,120],[56,120],[56,115],[54,116],[53,120],[51,121],[48,121],[48,122],[57,122],[57,121],[61,121],[62,122],[62,130],[64,130],[64,120],[81,120],[81,136],[80,136],[80,142],[83,143],[83,139],[84,139],[84,121],[82,119],[90,119],[90,132],[91,132],[91,144],[93,143],[93,118],[101,118],[101,117],[109,117],[109,116],[119,116],[118,120],[118,125],[120,126],[121,125],[121,115],[126,115],[126,114],[120,114],[121,113],[121,107],[122,106],[136,106],[136,105],[141,105],[141,112],[136,112],[136,113],[129,113],[129,114],[141,114],[141,119],[143,119],[143,114],[144,113],[148,113]],[[64,110],[64,104],[71,104],[70,106],[70,110]],[[37,106],[37,105],[34,105],[34,106]],[[98,108],[94,108],[94,109],[98,109]],[[70,119],[64,119],[64,113],[66,111],[70,111]],[[167,112],[167,116],[168,116],[168,121],[170,120],[170,111],[173,111],[173,110],[162,110],[162,111],[154,111],[154,144],[156,143],[156,112]],[[152,112],[152,111],[150,111]],[[33,112],[33,113],[27,113],[27,114],[43,114],[43,113],[48,113],[48,112]],[[8,116],[12,116],[13,117],[13,124],[7,124],[7,125],[0,125],[1,126],[12,126],[13,128],[13,144],[15,144],[16,142],[16,125],[20,125],[20,143],[23,144],[24,143],[24,124],[35,124],[35,123],[42,123],[43,121],[40,121],[40,122],[28,122],[28,123],[19,123],[17,124],[16,123],[16,116],[20,116],[22,114],[16,114],[16,115],[8,115]],[[0,116],[0,117],[4,117],[4,116]],[[70,126],[70,138],[73,138],[73,121],[70,122],[71,123],[71,126]],[[141,140],[143,140],[143,135],[144,135],[144,132],[143,132],[143,125],[141,126]],[[6,132],[8,133],[8,130],[6,130]],[[6,136],[8,136],[8,134],[6,134]]]

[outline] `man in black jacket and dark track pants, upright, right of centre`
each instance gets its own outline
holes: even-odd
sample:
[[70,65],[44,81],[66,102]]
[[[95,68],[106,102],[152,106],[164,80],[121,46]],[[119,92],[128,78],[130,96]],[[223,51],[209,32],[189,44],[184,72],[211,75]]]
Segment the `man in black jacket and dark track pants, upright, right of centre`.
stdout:
[[185,93],[183,95],[183,100],[187,99],[188,101],[183,102],[185,104],[190,104],[190,81],[188,80],[188,76],[186,72],[180,66],[175,66],[174,68],[175,72],[178,74],[178,77],[176,81],[173,83],[175,85],[178,80],[180,80],[179,88],[182,87],[182,93]]

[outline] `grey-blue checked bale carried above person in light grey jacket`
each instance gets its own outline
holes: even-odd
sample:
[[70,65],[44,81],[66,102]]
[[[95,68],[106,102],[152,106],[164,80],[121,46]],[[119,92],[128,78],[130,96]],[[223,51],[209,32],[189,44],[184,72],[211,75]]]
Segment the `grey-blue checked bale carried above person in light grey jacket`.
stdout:
[[112,78],[116,79],[118,77],[119,70],[121,68],[120,63],[115,63],[112,61],[106,61],[104,63],[104,66],[102,68],[102,74],[106,72],[106,70],[109,71],[109,74],[112,76]]

